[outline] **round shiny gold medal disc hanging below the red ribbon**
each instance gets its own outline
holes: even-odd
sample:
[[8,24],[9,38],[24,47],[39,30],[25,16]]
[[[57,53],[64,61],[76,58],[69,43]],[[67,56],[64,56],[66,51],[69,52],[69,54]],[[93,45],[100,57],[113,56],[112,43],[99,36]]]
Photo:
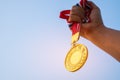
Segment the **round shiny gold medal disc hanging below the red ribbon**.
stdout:
[[70,72],[79,70],[88,57],[87,47],[83,44],[75,44],[65,58],[65,67]]

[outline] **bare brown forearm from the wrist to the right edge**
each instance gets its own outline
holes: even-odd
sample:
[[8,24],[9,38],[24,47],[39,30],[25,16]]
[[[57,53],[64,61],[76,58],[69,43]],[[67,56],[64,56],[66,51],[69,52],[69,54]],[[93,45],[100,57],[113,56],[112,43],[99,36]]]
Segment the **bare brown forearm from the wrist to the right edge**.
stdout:
[[87,38],[120,62],[120,31],[101,25]]

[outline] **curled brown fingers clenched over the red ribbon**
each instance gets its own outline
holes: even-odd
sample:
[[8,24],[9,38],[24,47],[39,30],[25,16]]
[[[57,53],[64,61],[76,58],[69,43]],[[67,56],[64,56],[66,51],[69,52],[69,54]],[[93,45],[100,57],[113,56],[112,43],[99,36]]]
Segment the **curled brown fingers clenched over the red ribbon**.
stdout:
[[81,22],[84,19],[84,10],[80,6],[73,6],[70,12],[70,22]]

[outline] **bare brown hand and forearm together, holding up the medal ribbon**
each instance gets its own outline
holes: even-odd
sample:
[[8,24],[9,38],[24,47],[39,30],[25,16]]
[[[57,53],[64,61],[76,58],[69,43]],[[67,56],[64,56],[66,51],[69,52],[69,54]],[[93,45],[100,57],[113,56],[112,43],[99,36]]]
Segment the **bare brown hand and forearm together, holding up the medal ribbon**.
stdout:
[[120,31],[106,27],[100,9],[91,1],[88,1],[88,4],[92,7],[89,23],[82,23],[85,12],[80,6],[72,7],[69,21],[78,22],[81,26],[82,37],[90,40],[120,62]]

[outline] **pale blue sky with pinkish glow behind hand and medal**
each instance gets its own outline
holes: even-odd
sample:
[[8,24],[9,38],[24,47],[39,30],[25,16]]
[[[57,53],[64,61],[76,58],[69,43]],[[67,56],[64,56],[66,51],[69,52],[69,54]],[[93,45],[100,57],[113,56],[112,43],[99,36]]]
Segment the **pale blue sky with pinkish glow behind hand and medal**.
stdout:
[[[120,30],[120,0],[92,0],[106,26]],[[0,80],[120,80],[120,63],[86,39],[86,64],[64,67],[71,32],[59,12],[79,0],[0,0]],[[113,42],[114,43],[114,42]]]

